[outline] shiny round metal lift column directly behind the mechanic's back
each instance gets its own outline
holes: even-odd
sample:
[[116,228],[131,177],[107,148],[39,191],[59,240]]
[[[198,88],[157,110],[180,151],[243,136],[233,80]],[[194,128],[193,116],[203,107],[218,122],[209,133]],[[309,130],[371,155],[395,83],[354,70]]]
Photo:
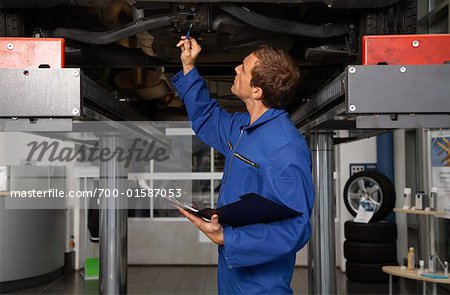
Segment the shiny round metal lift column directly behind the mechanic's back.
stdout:
[[316,200],[308,244],[308,293],[336,294],[333,133],[312,132],[309,144]]

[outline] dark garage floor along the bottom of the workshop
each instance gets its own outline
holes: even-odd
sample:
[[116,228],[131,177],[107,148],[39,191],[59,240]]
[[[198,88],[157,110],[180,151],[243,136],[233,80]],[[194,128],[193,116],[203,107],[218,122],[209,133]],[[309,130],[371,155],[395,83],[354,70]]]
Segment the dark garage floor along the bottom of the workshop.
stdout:
[[[337,271],[338,294],[388,294],[388,284],[367,284],[347,281]],[[216,294],[216,267],[213,266],[130,266],[128,268],[128,294]],[[308,269],[295,269],[292,280],[294,294],[308,294]],[[394,294],[421,294],[422,284],[399,280]],[[10,294],[97,294],[98,281],[84,281],[78,272],[66,274],[58,280],[31,289]],[[438,288],[438,294],[449,294]]]

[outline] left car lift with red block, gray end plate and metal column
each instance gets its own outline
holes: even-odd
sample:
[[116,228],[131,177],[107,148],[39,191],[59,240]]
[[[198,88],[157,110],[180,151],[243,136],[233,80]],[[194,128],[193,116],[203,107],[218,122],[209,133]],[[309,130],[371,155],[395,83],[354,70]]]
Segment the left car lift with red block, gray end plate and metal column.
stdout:
[[[0,132],[39,132],[77,142],[68,134],[85,131],[88,123],[78,121],[88,119],[105,121],[107,130],[123,132],[125,128],[128,137],[150,139],[155,149],[168,146],[156,128],[126,122],[148,118],[110,95],[79,68],[63,68],[63,39],[0,38],[0,56]],[[115,150],[125,145],[124,136],[114,132],[100,131],[97,137],[100,148]],[[100,163],[101,188],[125,191],[127,175],[117,161]],[[105,294],[127,291],[128,211],[123,208],[124,198],[102,198],[100,204],[100,290]]]

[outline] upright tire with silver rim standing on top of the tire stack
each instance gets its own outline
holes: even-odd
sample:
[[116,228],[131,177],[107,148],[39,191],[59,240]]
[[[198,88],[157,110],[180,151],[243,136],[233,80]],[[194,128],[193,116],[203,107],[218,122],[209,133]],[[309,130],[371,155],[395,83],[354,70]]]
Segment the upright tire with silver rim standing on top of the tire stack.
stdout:
[[347,180],[344,187],[344,203],[353,216],[358,212],[362,198],[372,199],[379,206],[371,222],[385,218],[395,205],[395,188],[392,182],[378,171],[362,171]]

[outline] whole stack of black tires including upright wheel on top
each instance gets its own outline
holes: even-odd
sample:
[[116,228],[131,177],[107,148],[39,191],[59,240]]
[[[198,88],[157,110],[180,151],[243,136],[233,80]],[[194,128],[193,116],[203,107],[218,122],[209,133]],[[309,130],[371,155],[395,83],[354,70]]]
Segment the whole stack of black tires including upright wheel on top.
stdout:
[[[347,221],[344,234],[344,257],[347,259],[346,274],[351,281],[366,283],[386,283],[389,275],[383,273],[382,267],[386,265],[398,265],[397,263],[397,226],[385,218],[395,204],[395,189],[390,180],[376,171],[363,171],[354,174],[347,181],[344,189],[344,201],[349,212],[356,216],[357,206],[355,202],[358,186],[364,186],[363,182],[379,189],[380,207],[369,223],[356,223]],[[366,187],[364,187],[366,190]],[[369,190],[369,188],[367,188]],[[367,198],[367,194],[361,194]],[[351,197],[348,197],[351,196]],[[352,199],[353,198],[353,199]]]

